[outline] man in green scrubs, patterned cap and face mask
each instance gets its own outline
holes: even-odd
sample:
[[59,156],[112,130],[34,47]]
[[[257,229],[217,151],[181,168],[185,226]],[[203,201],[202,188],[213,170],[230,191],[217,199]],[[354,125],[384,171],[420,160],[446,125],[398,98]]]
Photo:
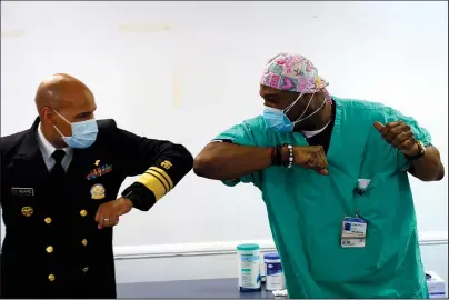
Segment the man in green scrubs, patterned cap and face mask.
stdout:
[[302,56],[265,67],[263,113],[219,134],[194,172],[262,192],[289,298],[428,298],[408,173],[441,180],[429,132],[331,97]]

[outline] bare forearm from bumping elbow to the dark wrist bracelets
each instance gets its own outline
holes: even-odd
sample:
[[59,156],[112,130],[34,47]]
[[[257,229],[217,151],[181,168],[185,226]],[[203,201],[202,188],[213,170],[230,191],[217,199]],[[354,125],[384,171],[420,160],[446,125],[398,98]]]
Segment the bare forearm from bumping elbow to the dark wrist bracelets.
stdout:
[[270,166],[270,147],[212,142],[194,159],[193,171],[209,179],[232,180]]

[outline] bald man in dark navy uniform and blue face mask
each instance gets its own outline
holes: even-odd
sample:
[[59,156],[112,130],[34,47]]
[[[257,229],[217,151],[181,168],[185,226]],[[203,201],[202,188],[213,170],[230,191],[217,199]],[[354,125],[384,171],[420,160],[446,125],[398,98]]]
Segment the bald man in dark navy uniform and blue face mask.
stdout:
[[1,138],[1,297],[117,298],[112,227],[172,190],[192,156],[97,121],[92,92],[68,74],[44,80],[36,104],[31,129]]

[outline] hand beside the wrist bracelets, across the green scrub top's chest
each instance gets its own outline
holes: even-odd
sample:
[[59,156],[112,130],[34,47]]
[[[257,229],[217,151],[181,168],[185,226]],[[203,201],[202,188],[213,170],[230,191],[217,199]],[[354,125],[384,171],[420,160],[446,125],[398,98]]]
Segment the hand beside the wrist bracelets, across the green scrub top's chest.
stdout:
[[295,163],[327,176],[328,159],[321,146],[293,147]]

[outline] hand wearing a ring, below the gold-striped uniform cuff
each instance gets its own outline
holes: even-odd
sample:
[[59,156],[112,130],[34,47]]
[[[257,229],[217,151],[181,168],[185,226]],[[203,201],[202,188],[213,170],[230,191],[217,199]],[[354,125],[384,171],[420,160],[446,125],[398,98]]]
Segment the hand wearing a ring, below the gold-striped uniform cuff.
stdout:
[[96,221],[98,229],[113,227],[119,223],[119,216],[128,213],[132,209],[132,202],[128,198],[119,198],[113,201],[102,203],[97,211]]

